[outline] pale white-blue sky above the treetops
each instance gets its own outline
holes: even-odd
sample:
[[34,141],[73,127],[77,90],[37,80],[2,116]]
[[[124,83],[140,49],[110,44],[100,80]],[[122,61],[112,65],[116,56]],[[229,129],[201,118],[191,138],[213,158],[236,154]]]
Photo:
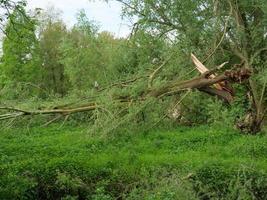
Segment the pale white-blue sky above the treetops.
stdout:
[[27,0],[28,8],[46,9],[53,5],[61,10],[62,18],[68,26],[75,22],[78,10],[84,9],[90,20],[100,25],[100,30],[112,32],[116,37],[126,37],[130,33],[130,23],[122,20],[121,4],[115,1],[109,3],[103,0]]

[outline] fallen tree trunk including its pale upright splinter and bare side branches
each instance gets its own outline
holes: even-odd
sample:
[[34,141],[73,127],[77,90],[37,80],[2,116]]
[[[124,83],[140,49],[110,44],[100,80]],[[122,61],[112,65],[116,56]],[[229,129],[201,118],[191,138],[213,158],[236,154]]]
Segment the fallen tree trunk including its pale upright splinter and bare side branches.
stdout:
[[[150,77],[148,87],[141,93],[140,96],[135,98],[131,97],[130,94],[128,96],[116,96],[112,99],[113,103],[122,106],[123,104],[129,104],[132,102],[142,102],[148,98],[161,99],[163,97],[176,95],[183,91],[197,89],[201,92],[217,96],[226,103],[230,104],[233,101],[234,97],[234,92],[231,87],[231,83],[242,83],[244,80],[247,80],[251,75],[251,71],[244,67],[224,70],[223,72],[216,74],[217,71],[221,70],[225,63],[214,68],[213,70],[208,70],[193,54],[191,55],[191,57],[196,68],[201,73],[200,76],[185,81],[170,81],[159,88],[153,88],[152,81],[155,78],[155,74],[158,72],[157,68],[150,76],[147,76]],[[162,65],[160,67],[162,67]],[[123,83],[134,83],[136,80],[139,79],[140,78],[133,78],[128,81],[123,81]],[[122,84],[115,83],[109,87],[99,90],[98,92],[105,92],[105,90],[118,85]],[[125,84],[123,85],[125,86]],[[0,110],[4,110],[6,112],[0,115],[0,120],[7,120],[23,116],[57,115],[56,118],[50,121],[53,122],[58,119],[58,115],[59,117],[67,117],[74,113],[90,112],[96,109],[109,112],[104,105],[101,105],[96,101],[92,100],[83,105],[55,105],[52,109],[41,110],[25,110],[20,108],[2,106],[0,107]]]

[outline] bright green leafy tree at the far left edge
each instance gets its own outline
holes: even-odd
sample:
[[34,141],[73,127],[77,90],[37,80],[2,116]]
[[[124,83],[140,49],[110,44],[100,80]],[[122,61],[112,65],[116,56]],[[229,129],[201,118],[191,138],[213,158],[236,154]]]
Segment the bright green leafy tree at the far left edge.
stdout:
[[31,88],[33,90],[27,89],[25,85],[35,85],[40,81],[36,26],[36,20],[27,16],[25,10],[15,9],[9,16],[0,64],[0,87],[13,90],[4,93],[4,95],[9,93],[11,99],[18,98],[21,92],[29,95],[36,91],[33,88]]

